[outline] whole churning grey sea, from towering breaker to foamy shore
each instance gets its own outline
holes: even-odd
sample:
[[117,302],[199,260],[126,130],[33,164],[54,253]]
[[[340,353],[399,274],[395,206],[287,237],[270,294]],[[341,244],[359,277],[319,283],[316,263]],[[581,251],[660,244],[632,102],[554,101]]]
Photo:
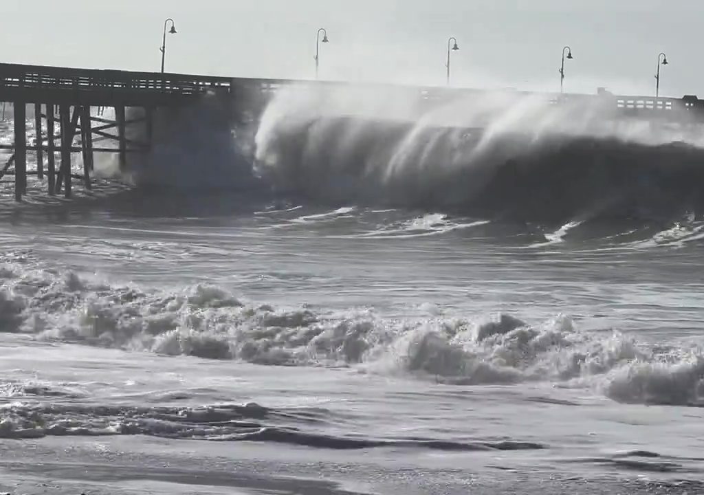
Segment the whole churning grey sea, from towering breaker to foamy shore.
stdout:
[[704,492],[699,134],[513,93],[226,106],[73,199],[0,184],[0,491]]

